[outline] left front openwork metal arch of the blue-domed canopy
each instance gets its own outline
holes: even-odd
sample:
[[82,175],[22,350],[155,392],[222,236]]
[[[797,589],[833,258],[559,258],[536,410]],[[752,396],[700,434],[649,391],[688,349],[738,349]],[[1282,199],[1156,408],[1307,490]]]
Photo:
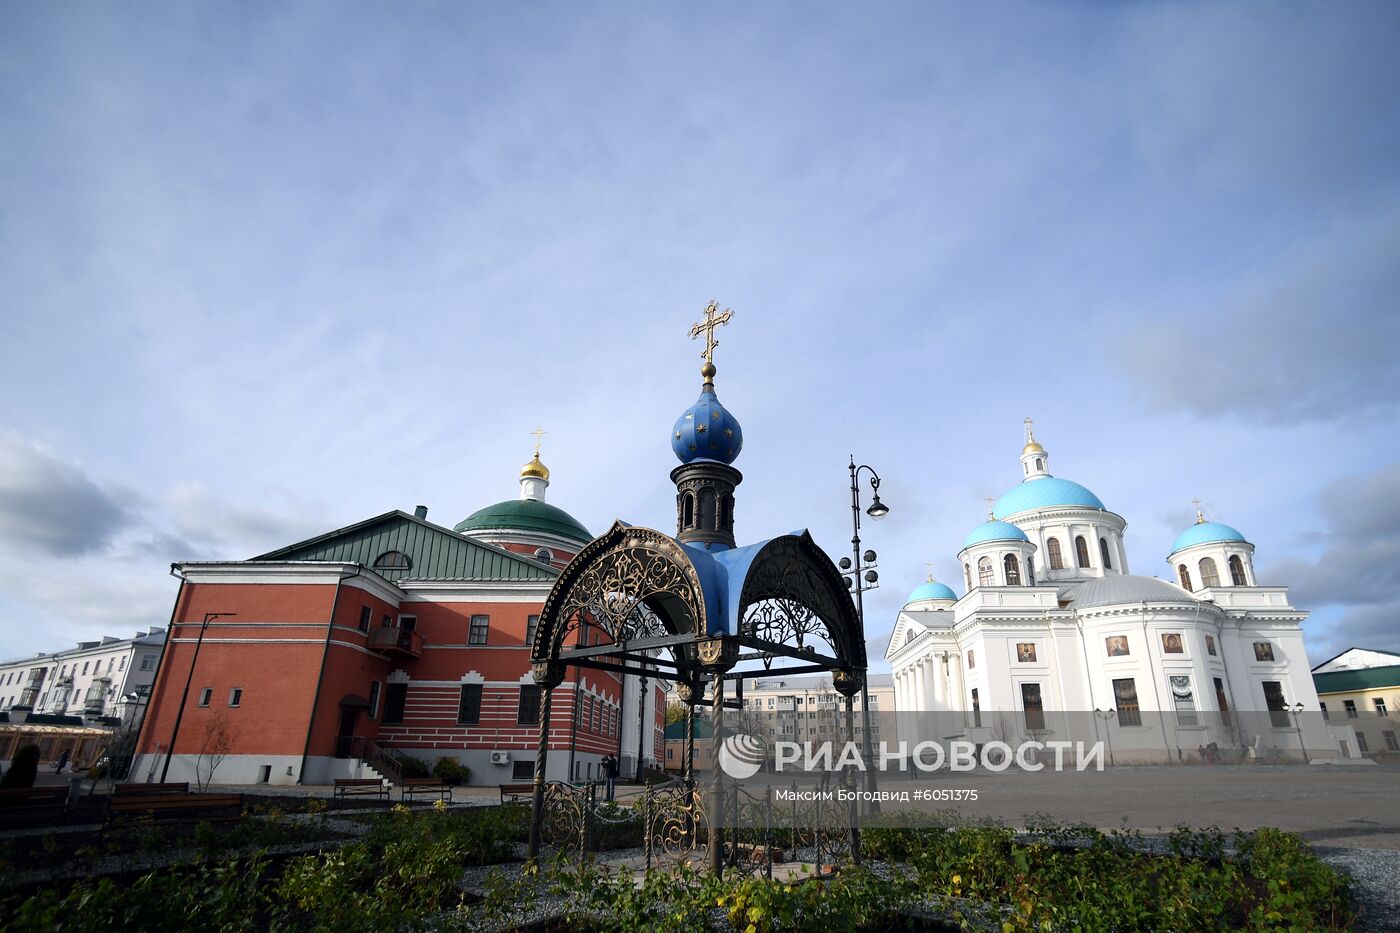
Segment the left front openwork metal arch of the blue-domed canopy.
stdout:
[[[616,646],[564,651],[582,623]],[[561,663],[623,654],[634,642],[690,642],[706,630],[704,594],[694,565],[676,541],[652,528],[615,521],[564,567],[539,616],[531,661],[545,681]]]

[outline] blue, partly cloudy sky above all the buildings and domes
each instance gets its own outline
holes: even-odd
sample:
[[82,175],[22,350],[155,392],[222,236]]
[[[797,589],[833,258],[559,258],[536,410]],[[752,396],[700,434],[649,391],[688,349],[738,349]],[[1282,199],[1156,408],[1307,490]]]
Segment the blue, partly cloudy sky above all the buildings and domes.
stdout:
[[715,350],[741,542],[909,591],[1050,469],[1194,517],[1313,664],[1400,650],[1394,3],[0,4],[0,656],[169,565],[518,495],[673,528]]

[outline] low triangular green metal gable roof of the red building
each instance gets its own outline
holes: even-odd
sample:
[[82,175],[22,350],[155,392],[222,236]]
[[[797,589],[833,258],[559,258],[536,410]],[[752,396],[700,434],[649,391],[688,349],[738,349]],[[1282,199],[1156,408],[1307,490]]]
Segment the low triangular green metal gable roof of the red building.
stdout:
[[[407,567],[375,567],[391,551]],[[448,531],[405,511],[388,511],[354,525],[309,538],[253,560],[346,560],[374,569],[386,580],[550,581],[557,570],[538,560]]]

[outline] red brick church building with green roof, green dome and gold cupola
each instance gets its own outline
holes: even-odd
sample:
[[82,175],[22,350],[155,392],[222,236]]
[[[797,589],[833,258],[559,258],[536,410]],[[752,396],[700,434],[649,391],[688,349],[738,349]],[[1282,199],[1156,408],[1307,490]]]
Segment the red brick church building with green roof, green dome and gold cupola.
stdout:
[[[251,560],[188,562],[133,780],[329,783],[454,758],[470,783],[528,780],[539,737],[531,640],[554,579],[592,535],[545,502],[539,454],[518,499],[455,528],[389,511]],[[584,632],[581,639],[588,639]],[[664,685],[568,671],[549,778],[659,765]],[[172,748],[174,745],[174,748]]]

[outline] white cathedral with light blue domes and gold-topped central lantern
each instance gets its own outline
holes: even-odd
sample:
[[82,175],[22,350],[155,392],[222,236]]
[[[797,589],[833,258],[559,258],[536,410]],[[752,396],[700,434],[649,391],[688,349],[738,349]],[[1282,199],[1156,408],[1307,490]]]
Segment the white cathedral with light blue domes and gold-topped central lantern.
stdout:
[[930,577],[899,612],[885,657],[920,738],[1106,737],[1117,763],[1337,755],[1308,614],[1259,584],[1254,545],[1197,510],[1170,581],[1128,573],[1127,523],[1050,474],[1029,420],[1021,466],[958,552],[963,595]]

